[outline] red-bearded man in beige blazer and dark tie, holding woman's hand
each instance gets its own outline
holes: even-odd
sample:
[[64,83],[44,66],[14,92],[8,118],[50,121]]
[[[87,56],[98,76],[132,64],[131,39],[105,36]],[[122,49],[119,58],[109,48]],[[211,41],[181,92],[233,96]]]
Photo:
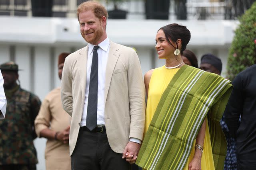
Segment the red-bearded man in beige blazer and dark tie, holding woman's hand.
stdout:
[[144,131],[140,62],[132,48],[108,39],[104,6],[87,1],[77,14],[88,45],[66,58],[61,82],[62,105],[72,116],[72,170],[128,170]]

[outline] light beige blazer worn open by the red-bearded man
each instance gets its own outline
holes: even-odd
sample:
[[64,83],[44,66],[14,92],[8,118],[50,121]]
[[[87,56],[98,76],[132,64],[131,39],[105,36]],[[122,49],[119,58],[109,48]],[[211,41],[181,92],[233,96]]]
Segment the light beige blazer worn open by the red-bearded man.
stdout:
[[[70,54],[64,63],[61,100],[72,116],[70,155],[78,137],[84,108],[88,46]],[[110,147],[122,153],[129,138],[142,140],[145,121],[145,86],[136,52],[110,41],[105,82],[105,123]]]

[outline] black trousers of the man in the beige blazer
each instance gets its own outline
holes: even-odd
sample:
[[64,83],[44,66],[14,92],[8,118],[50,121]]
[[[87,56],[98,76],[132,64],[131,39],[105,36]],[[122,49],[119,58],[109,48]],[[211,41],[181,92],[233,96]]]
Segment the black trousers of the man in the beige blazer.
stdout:
[[72,170],[130,170],[122,154],[114,152],[106,131],[93,133],[80,128],[76,147],[71,155]]

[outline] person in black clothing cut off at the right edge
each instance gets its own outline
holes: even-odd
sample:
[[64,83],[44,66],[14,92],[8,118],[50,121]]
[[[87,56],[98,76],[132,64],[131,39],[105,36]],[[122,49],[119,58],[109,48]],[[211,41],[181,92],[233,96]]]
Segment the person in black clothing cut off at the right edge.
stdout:
[[[256,64],[240,72],[224,112],[230,135],[236,139],[237,169],[256,169]],[[239,120],[241,119],[241,121]]]

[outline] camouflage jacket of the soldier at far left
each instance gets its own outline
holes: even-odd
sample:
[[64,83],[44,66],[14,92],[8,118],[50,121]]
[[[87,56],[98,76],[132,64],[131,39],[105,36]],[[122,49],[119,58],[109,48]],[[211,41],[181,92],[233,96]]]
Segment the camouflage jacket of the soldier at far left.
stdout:
[[34,120],[41,102],[20,87],[6,99],[6,117],[0,121],[0,165],[36,164]]

